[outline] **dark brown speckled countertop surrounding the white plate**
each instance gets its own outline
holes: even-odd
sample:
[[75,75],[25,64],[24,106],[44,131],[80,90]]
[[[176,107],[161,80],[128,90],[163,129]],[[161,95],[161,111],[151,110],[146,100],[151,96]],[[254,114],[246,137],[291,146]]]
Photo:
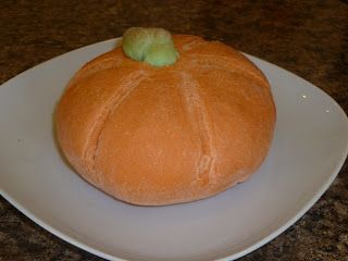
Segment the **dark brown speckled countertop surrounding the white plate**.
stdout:
[[[157,26],[219,39],[275,63],[325,90],[348,112],[346,0],[2,0],[0,12],[0,83],[127,27]],[[0,260],[101,259],[40,228],[0,198]],[[347,162],[302,219],[240,260],[348,260]]]

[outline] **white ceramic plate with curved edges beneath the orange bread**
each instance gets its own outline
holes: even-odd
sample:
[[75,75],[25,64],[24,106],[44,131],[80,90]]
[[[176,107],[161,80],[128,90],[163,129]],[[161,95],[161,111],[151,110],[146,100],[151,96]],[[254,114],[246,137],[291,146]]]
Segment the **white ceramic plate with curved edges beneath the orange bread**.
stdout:
[[0,87],[1,195],[49,232],[110,260],[239,258],[294,224],[327,189],[347,156],[348,121],[310,83],[250,57],[272,85],[277,123],[271,153],[246,183],[198,202],[122,203],[61,160],[52,112],[67,80],[115,40],[28,70]]

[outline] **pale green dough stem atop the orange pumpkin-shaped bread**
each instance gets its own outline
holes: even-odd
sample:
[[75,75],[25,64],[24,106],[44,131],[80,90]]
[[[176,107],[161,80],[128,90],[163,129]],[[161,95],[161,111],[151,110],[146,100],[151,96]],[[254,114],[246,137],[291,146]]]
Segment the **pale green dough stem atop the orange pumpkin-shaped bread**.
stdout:
[[122,48],[130,59],[153,66],[171,65],[178,59],[171,34],[162,28],[132,27],[123,35]]

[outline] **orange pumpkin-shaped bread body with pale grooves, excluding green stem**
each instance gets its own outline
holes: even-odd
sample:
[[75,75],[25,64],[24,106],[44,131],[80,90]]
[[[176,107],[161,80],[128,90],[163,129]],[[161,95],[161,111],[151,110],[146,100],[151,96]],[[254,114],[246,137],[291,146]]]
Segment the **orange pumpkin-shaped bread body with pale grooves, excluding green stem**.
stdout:
[[140,206],[188,202],[245,181],[265,159],[275,105],[233,48],[174,35],[179,59],[157,67],[116,47],[85,64],[57,107],[63,153],[89,183]]

